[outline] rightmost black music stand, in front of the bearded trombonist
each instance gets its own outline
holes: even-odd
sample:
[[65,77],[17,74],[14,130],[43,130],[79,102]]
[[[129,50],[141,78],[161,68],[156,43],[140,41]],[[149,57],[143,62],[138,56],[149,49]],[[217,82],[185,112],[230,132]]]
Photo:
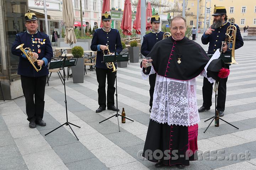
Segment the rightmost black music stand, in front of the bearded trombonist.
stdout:
[[[219,59],[217,59],[217,60],[219,60]],[[214,60],[213,60],[214,61]],[[212,62],[213,62],[212,61]],[[208,67],[212,67],[212,68],[209,68],[209,71],[211,72],[210,73],[210,76],[209,77],[215,77],[214,79],[215,79],[215,85],[214,85],[214,91],[215,91],[215,115],[213,116],[213,117],[211,117],[211,118],[209,118],[209,119],[207,119],[207,120],[205,120],[204,122],[207,122],[208,120],[210,120],[210,119],[212,119],[212,121],[209,123],[209,125],[207,126],[207,128],[206,128],[206,130],[204,131],[204,133],[207,131],[207,129],[209,128],[209,126],[210,126],[210,124],[212,124],[212,122],[213,122],[213,120],[215,119],[215,118],[219,118],[220,120],[222,120],[222,121],[224,121],[225,123],[227,123],[227,124],[229,124],[229,125],[231,125],[231,126],[233,126],[234,128],[236,128],[236,129],[239,129],[239,128],[237,128],[236,126],[234,126],[234,125],[232,125],[232,124],[230,124],[230,123],[228,123],[227,121],[225,121],[225,120],[223,120],[222,118],[220,118],[219,117],[219,115],[217,115],[217,90],[218,90],[218,85],[219,85],[219,80],[220,80],[220,78],[218,77],[218,70],[220,70],[220,68],[222,68],[224,65],[224,61],[223,61],[223,59],[221,58],[221,60],[219,60],[219,61],[221,61],[222,62],[222,64],[221,64],[221,66],[220,65],[213,65],[213,66],[208,66]],[[211,62],[211,63],[212,63]],[[216,62],[216,64],[217,64],[217,62]],[[225,66],[224,66],[225,67]],[[208,68],[207,68],[207,70],[208,70]],[[215,72],[215,73],[214,73]],[[208,74],[208,73],[207,73]]]

